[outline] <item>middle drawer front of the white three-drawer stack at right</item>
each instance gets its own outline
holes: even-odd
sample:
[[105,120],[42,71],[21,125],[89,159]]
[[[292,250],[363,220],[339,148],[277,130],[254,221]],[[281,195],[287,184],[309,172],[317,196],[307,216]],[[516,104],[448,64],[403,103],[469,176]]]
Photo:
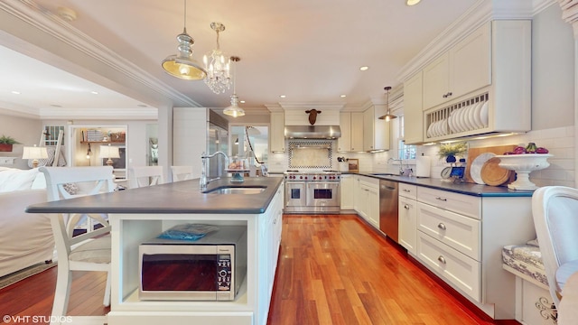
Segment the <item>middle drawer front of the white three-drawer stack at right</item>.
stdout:
[[417,204],[417,228],[459,252],[480,261],[480,220]]

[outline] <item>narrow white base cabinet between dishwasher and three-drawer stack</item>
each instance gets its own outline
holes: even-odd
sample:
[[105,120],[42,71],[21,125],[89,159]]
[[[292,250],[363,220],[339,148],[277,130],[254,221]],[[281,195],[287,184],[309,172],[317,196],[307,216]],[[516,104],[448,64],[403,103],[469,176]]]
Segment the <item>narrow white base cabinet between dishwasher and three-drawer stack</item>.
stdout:
[[407,252],[417,254],[417,187],[399,183],[398,215],[399,244]]

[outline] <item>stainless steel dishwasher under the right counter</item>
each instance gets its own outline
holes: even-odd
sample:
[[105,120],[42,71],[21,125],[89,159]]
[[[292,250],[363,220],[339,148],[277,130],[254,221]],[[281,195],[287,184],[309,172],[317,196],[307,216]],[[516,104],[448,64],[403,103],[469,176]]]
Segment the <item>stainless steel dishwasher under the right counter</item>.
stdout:
[[379,180],[379,229],[398,242],[398,211],[396,181]]

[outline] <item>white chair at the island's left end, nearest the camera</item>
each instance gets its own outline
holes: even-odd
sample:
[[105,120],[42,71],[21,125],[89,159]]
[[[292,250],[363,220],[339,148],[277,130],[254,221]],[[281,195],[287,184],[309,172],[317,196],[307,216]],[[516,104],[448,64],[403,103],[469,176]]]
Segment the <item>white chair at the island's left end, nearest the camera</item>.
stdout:
[[[98,167],[41,167],[46,179],[48,200],[69,200],[86,195],[112,192],[116,189],[113,168]],[[75,184],[73,192],[71,185]],[[80,217],[96,220],[99,228],[87,228],[86,233],[73,236],[74,224]],[[72,271],[99,271],[107,273],[103,304],[110,305],[110,225],[106,214],[51,214],[52,233],[58,258],[56,291],[51,320],[66,316],[72,283]]]

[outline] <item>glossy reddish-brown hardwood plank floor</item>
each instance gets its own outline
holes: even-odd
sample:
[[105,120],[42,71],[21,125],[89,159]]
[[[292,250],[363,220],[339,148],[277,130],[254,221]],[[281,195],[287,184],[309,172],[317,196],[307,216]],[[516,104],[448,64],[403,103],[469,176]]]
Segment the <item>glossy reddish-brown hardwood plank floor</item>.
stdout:
[[[283,222],[269,324],[492,324],[355,215],[285,215]],[[2,316],[49,317],[56,270],[0,290]],[[69,314],[105,314],[105,282],[104,273],[74,273]],[[42,323],[29,320],[19,323]]]

